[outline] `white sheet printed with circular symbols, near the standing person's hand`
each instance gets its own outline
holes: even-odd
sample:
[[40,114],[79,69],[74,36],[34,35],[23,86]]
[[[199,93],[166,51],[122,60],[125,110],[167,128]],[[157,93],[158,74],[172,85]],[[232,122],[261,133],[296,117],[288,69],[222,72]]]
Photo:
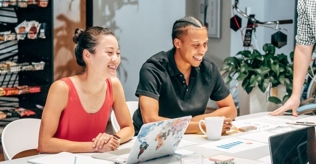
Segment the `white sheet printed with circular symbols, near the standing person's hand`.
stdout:
[[273,129],[276,127],[287,127],[291,126],[290,124],[286,124],[286,122],[291,122],[289,119],[276,118],[272,116],[262,116],[257,118],[250,118],[245,120],[236,120],[232,123],[240,128],[247,126],[255,126],[257,130],[252,130],[250,132],[259,132],[263,130]]

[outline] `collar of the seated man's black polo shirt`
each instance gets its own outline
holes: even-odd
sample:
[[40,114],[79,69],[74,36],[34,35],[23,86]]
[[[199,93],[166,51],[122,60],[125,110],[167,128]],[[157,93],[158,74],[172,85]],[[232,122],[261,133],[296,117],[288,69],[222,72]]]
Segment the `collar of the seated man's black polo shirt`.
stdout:
[[[166,52],[168,60],[169,60],[169,63],[168,63],[169,75],[170,76],[182,75],[182,73],[179,71],[179,69],[176,65],[176,62],[174,60],[174,53],[175,53],[175,48],[172,48],[170,51]],[[197,67],[192,66],[192,68],[194,68],[194,69],[191,70],[191,77],[195,78],[197,75],[197,72],[200,70],[200,67],[199,66],[197,66]]]

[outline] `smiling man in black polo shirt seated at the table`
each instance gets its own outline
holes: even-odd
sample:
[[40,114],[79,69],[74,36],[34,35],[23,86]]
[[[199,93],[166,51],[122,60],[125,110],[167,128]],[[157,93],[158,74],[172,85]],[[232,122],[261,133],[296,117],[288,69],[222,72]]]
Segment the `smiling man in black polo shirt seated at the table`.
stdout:
[[[225,116],[225,133],[237,110],[216,65],[203,59],[208,42],[203,22],[193,17],[177,20],[172,39],[173,49],[155,54],[140,70],[135,93],[139,107],[133,115],[135,135],[144,123],[190,115],[186,133],[201,132],[198,122],[208,116]],[[215,100],[219,109],[204,114],[209,99]]]

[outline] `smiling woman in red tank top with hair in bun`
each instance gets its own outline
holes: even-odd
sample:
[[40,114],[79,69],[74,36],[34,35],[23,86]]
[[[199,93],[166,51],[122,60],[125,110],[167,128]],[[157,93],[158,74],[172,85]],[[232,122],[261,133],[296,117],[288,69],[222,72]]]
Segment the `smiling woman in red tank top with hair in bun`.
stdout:
[[[85,71],[54,82],[49,89],[39,135],[41,153],[117,150],[134,136],[123,87],[116,77],[119,45],[107,28],[76,29],[77,63]],[[111,107],[121,130],[120,141],[104,133]]]

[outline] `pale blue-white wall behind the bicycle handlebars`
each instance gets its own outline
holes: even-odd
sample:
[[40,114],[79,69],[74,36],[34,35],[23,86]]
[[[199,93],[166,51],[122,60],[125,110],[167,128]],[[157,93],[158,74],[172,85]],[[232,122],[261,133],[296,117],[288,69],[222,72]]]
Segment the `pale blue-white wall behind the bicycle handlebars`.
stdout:
[[[234,4],[234,0],[231,0],[231,4]],[[255,14],[255,18],[259,21],[276,21],[276,20],[295,20],[295,12],[296,6],[295,1],[276,1],[276,0],[240,0],[238,8],[246,12],[245,8],[251,7],[251,13]],[[236,10],[234,10],[235,14],[237,14]],[[233,12],[231,11],[231,17],[233,17]],[[242,18],[242,27],[246,27],[247,19],[240,14],[237,14]],[[287,45],[282,48],[276,48],[276,53],[284,53],[289,55],[291,51],[294,50],[294,23],[280,25],[282,28],[286,28],[288,33],[282,31],[288,36]],[[270,27],[274,27],[275,25],[269,25]],[[243,31],[245,33],[246,29]],[[277,30],[273,30],[265,27],[258,27],[256,29],[256,36],[258,39],[258,46],[260,51],[262,51],[262,46],[265,43],[271,43],[271,35],[277,32]],[[254,44],[254,40],[252,39],[252,44]],[[231,30],[231,56],[234,56],[239,51],[244,50],[242,47],[243,42],[241,40],[240,31]],[[251,50],[251,48],[250,48]]]

